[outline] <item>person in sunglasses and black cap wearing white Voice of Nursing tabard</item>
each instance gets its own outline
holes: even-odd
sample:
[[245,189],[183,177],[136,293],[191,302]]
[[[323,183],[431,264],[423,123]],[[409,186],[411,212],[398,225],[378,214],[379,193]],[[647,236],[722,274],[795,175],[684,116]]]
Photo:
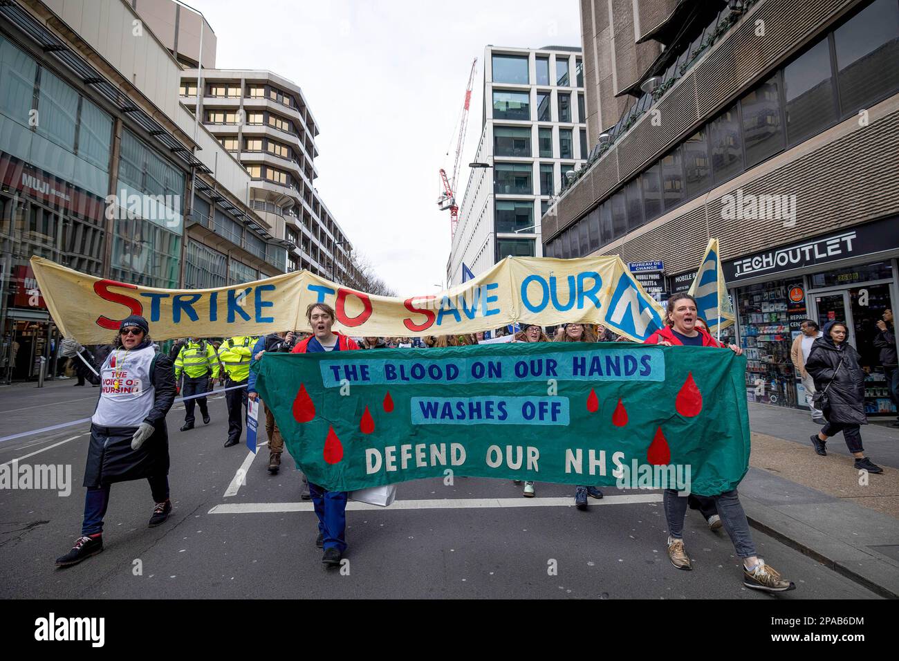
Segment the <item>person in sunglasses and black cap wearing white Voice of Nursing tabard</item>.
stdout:
[[63,341],[63,354],[80,355],[79,361],[91,364],[87,379],[102,388],[91,418],[81,536],[57,558],[57,567],[76,565],[102,551],[103,516],[116,482],[147,479],[155,504],[149,527],[165,523],[172,512],[165,415],[174,403],[174,363],[156,349],[147,319],[139,315],[121,322],[99,373],[84,347],[69,338]]

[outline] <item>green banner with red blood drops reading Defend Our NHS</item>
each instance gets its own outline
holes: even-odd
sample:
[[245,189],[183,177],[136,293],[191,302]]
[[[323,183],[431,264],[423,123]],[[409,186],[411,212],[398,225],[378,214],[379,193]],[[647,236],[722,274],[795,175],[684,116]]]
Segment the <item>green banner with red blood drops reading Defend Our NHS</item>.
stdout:
[[256,389],[310,481],[448,475],[736,487],[749,464],[743,357],[648,344],[265,353]]

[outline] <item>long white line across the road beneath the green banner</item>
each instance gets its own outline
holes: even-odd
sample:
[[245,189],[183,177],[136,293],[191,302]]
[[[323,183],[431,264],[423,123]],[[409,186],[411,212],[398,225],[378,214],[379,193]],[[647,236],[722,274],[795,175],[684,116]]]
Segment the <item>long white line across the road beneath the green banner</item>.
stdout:
[[[235,491],[236,493],[236,491]],[[227,494],[226,494],[227,496]],[[591,501],[597,505],[635,505],[637,503],[661,503],[662,494],[633,494],[606,496]],[[574,496],[564,498],[427,498],[424,500],[395,500],[389,507],[367,503],[347,503],[348,510],[442,510],[479,509],[490,507],[572,507]],[[313,512],[312,503],[226,503],[216,505],[207,514],[273,514],[282,512]]]

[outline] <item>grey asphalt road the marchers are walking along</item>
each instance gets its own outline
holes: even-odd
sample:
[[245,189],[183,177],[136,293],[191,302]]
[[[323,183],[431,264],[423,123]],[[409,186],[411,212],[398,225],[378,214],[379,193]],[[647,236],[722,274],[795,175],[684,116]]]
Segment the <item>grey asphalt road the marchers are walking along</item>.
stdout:
[[[0,389],[0,436],[90,415],[98,389],[71,383]],[[0,598],[876,596],[758,531],[761,557],[797,590],[746,589],[730,540],[708,531],[696,512],[688,513],[685,528],[695,568],[678,571],[665,553],[658,492],[607,489],[610,497],[591,500],[590,510],[580,512],[573,487],[538,483],[538,497],[525,499],[506,480],[458,477],[452,486],[441,479],[404,483],[394,506],[348,512],[349,564],[343,574],[327,571],[314,543],[316,516],[300,504],[299,473],[288,454],[280,474],[271,476],[261,448],[245,485],[225,496],[248,451],[222,447],[224,397],[213,397],[210,411],[211,424],[200,421],[185,433],[178,431],[183,406],[168,416],[169,521],[147,528],[153,500],[146,481],[113,485],[104,551],[67,569],[56,568],[54,559],[80,532],[88,424],[0,442],[0,464],[68,465],[72,478],[69,496],[0,489]],[[458,502],[430,506],[446,499]],[[272,511],[258,512],[265,508]]]

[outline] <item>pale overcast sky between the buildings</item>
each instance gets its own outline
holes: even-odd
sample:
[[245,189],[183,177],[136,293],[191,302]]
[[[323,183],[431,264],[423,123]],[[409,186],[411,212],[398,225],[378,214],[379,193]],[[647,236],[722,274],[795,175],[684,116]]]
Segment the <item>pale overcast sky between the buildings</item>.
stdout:
[[[397,294],[446,280],[437,208],[471,62],[477,70],[457,202],[483,117],[484,48],[581,45],[577,0],[193,0],[218,68],[259,68],[306,95],[320,133],[315,185],[355,250]],[[449,156],[447,151],[449,148]]]

